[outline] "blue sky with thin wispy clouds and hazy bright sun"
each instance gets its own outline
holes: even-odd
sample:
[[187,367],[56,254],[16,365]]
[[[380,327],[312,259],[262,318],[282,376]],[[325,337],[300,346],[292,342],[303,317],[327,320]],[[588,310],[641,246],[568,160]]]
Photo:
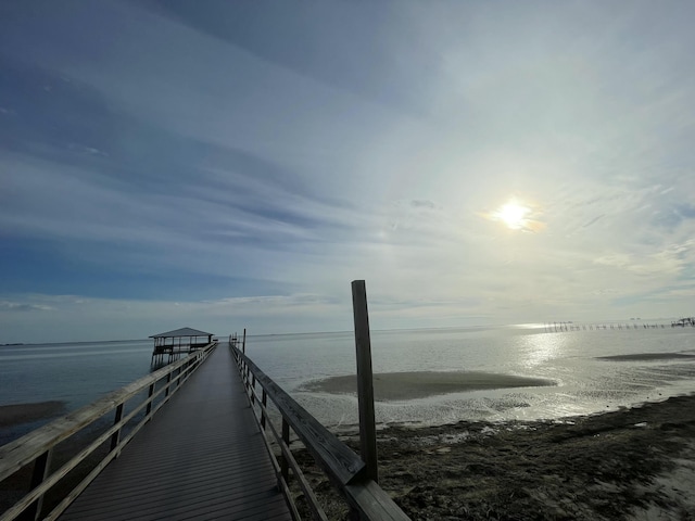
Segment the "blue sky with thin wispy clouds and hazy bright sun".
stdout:
[[3,0],[0,343],[692,316],[694,17]]

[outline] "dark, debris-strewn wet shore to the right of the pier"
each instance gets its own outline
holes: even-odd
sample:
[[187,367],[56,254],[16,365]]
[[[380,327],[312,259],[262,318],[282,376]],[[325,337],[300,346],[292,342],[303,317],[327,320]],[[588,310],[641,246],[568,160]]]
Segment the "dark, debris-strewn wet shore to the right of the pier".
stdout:
[[[380,485],[413,520],[695,519],[695,396],[559,421],[391,427],[378,454]],[[296,455],[329,519],[348,519]]]

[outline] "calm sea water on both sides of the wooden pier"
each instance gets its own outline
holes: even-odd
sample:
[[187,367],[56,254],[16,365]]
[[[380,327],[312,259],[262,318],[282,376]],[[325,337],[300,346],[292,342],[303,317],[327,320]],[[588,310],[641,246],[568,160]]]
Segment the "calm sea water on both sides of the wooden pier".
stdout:
[[[220,333],[225,338],[225,333]],[[443,423],[590,414],[695,391],[695,361],[608,361],[598,356],[695,354],[695,329],[546,332],[540,327],[372,331],[375,372],[490,371],[542,377],[552,387],[378,403],[377,420]],[[320,421],[357,422],[354,396],[301,391],[309,380],[355,372],[354,336],[249,336],[247,353]],[[0,405],[61,399],[77,408],[150,370],[151,341],[0,347]],[[7,432],[0,432],[0,439]]]

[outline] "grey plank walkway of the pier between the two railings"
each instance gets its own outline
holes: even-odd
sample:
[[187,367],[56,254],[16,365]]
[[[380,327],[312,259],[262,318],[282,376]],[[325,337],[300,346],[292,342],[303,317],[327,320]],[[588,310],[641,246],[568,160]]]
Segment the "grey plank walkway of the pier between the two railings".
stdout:
[[223,343],[61,520],[290,520]]

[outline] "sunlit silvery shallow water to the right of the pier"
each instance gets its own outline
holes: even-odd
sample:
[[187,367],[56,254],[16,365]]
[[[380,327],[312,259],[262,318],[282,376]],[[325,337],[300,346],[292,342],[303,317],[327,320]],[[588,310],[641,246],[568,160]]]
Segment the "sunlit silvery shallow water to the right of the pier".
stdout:
[[[630,328],[547,332],[539,327],[371,333],[375,372],[489,371],[554,380],[551,387],[472,391],[377,403],[380,423],[559,418],[612,410],[695,391],[695,360],[601,356],[695,353],[695,330]],[[352,333],[256,336],[247,353],[324,423],[357,423],[355,396],[304,392],[303,383],[355,372]]]

